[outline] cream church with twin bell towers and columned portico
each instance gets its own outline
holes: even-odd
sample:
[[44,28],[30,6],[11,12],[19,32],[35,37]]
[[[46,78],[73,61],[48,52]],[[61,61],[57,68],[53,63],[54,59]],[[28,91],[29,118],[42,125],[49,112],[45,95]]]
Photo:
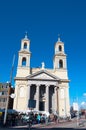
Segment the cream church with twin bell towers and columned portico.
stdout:
[[[38,58],[38,57],[37,57]],[[70,115],[69,79],[67,55],[64,43],[58,37],[54,47],[53,68],[30,67],[30,40],[27,36],[21,40],[18,52],[18,66],[15,77],[13,109],[17,111],[58,112],[59,116]],[[32,106],[30,106],[32,102]],[[34,105],[33,105],[34,104]]]

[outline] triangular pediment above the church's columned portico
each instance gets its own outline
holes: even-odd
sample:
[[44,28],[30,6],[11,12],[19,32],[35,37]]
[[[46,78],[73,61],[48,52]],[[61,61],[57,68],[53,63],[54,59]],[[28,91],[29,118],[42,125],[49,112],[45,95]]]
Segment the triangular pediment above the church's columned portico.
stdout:
[[60,80],[58,77],[47,72],[46,70],[38,71],[27,77],[28,79],[40,79],[40,80]]

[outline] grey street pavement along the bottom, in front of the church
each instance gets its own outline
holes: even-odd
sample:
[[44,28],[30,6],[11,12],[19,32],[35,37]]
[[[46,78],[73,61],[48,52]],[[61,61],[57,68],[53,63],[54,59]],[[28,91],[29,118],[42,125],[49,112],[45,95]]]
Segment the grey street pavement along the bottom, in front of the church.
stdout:
[[[27,129],[28,126],[12,126],[12,127],[0,127],[0,130],[25,130]],[[62,120],[59,123],[57,122],[49,122],[49,123],[45,123],[45,124],[34,124],[32,125],[32,128],[36,128],[36,129],[41,129],[41,128],[70,128],[70,129],[86,129],[86,119],[79,119],[77,120],[77,118],[72,119],[71,121],[65,121]]]

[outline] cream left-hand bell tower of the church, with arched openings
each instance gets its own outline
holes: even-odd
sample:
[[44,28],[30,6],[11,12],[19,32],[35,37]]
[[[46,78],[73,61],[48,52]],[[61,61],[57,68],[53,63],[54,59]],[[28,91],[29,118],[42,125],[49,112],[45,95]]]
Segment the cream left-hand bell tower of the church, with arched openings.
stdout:
[[21,49],[19,51],[16,77],[26,77],[30,74],[30,57],[30,40],[26,34],[21,40]]

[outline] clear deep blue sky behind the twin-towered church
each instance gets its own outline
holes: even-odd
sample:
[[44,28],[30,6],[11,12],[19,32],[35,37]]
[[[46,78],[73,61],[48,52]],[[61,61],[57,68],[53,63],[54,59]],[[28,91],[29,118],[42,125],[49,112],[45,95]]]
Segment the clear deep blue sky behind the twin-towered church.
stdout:
[[[1,0],[0,82],[10,79],[13,55],[25,31],[31,41],[31,67],[53,67],[54,45],[61,35],[67,54],[70,102],[86,93],[86,0]],[[86,99],[85,99],[86,100]]]

